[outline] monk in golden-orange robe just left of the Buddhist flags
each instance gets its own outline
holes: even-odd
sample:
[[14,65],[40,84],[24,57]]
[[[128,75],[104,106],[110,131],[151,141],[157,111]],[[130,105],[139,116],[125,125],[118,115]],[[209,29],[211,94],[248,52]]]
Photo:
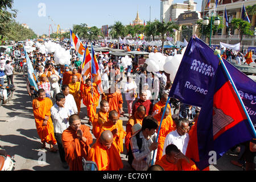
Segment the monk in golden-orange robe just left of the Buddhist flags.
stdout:
[[81,110],[81,91],[80,91],[80,82],[77,81],[77,76],[72,76],[72,82],[68,84],[69,93],[74,97],[77,111],[80,113]]

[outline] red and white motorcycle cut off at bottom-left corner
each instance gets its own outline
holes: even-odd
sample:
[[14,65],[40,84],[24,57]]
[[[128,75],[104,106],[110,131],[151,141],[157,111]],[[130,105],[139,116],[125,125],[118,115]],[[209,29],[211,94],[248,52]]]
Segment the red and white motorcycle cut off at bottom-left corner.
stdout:
[[0,171],[14,171],[14,156],[7,155],[6,150],[0,150]]

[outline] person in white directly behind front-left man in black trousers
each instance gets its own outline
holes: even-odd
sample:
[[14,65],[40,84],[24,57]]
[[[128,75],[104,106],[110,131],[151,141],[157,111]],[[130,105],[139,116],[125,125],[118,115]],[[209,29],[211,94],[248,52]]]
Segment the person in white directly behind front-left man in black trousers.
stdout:
[[69,87],[68,85],[61,86],[62,93],[65,96],[65,107],[69,110],[70,115],[77,114],[77,106],[74,97],[69,94]]

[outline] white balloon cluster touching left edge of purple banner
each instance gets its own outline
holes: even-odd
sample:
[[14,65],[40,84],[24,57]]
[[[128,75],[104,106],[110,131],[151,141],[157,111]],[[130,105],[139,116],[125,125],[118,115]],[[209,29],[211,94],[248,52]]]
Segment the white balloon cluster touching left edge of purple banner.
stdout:
[[153,53],[151,52],[148,55],[148,59],[146,59],[145,63],[147,64],[147,71],[148,72],[159,72],[164,71],[168,74],[170,74],[170,80],[171,82],[174,81],[174,78],[176,76],[177,70],[179,69],[181,60],[183,58],[183,55],[185,53],[185,48],[183,48],[183,51],[181,54],[176,54],[175,56],[164,56],[160,52]]

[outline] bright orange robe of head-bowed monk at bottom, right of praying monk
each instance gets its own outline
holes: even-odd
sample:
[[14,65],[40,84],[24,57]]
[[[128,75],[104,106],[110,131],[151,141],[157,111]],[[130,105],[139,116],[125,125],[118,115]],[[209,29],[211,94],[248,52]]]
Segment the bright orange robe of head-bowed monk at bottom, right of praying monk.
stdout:
[[90,148],[88,160],[97,164],[99,171],[118,171],[123,168],[122,159],[117,150],[116,144],[113,142],[109,149],[106,149],[100,143],[100,139],[96,140]]

